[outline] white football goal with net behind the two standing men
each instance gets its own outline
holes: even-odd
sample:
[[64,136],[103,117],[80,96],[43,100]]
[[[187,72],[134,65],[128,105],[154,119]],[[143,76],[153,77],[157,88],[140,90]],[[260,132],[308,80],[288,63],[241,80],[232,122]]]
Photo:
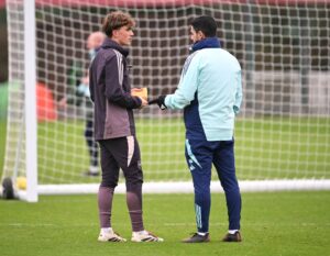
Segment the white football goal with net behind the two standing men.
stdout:
[[[97,191],[100,177],[84,175],[91,165],[85,137],[89,110],[77,91],[89,63],[87,37],[113,10],[136,21],[131,80],[135,88],[147,87],[150,98],[176,89],[191,43],[189,21],[212,15],[222,47],[243,70],[235,124],[242,190],[329,189],[327,0],[8,1],[10,91],[2,178],[16,185],[28,171],[28,187],[37,181],[37,193]],[[135,119],[144,189],[191,191],[182,112],[148,107],[136,110]],[[212,180],[220,189],[216,171]]]

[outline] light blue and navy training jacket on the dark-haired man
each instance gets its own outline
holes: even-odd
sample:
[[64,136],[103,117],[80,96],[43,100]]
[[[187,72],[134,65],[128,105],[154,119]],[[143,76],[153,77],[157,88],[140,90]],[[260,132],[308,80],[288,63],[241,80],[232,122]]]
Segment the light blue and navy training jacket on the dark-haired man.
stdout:
[[184,109],[188,140],[231,141],[242,102],[241,66],[222,48],[202,48],[185,62],[168,109]]

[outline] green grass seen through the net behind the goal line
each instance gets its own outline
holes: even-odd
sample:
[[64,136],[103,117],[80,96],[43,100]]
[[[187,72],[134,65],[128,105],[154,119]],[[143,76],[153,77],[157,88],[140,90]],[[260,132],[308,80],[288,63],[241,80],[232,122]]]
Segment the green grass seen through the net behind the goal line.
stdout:
[[[0,152],[3,151],[0,155],[1,167],[4,122],[0,122]],[[136,118],[136,130],[146,181],[190,180],[184,156],[185,129],[182,119]],[[81,169],[87,169],[89,165],[82,134],[82,121],[38,123],[40,183],[98,182],[98,178],[86,179],[81,176]],[[329,179],[329,118],[238,119],[238,177],[240,180]]]

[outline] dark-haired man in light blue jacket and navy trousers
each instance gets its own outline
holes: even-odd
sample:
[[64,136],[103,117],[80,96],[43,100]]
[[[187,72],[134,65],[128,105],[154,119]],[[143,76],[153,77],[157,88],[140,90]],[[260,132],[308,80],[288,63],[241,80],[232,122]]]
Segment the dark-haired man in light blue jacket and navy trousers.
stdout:
[[223,242],[241,242],[241,193],[234,164],[234,118],[242,101],[241,67],[220,48],[211,16],[191,22],[191,54],[174,94],[150,101],[161,109],[184,109],[186,159],[195,189],[197,232],[183,242],[209,242],[210,180],[215,165],[226,192],[229,231]]

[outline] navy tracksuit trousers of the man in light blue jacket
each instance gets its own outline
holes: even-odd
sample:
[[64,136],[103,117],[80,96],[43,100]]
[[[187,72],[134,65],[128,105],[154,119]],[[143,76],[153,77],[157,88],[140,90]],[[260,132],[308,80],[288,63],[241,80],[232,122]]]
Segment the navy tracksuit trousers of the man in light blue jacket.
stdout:
[[212,164],[224,190],[229,230],[240,230],[241,193],[235,176],[234,141],[186,140],[186,160],[193,176],[198,232],[209,232]]

